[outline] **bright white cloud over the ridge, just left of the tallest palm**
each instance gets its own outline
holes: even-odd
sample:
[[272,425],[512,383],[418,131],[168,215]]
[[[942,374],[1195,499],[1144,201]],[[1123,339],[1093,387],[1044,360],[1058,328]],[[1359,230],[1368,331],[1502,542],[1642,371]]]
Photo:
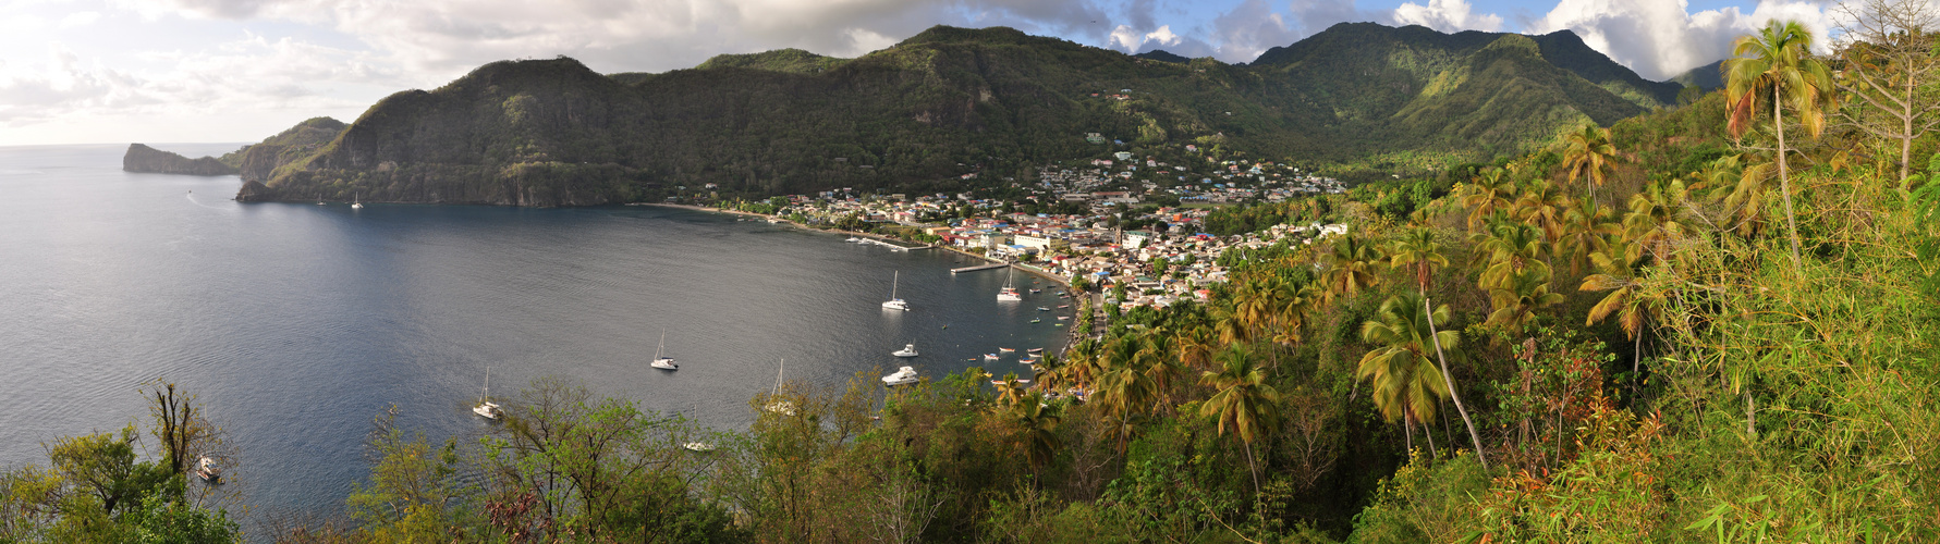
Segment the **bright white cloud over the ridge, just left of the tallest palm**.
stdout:
[[1738,8],[1692,14],[1684,0],[1562,0],[1525,31],[1575,31],[1585,45],[1637,76],[1668,79],[1729,56],[1732,39],[1771,19],[1796,19],[1812,29],[1820,45],[1831,43],[1826,2],[1762,2],[1752,14]]

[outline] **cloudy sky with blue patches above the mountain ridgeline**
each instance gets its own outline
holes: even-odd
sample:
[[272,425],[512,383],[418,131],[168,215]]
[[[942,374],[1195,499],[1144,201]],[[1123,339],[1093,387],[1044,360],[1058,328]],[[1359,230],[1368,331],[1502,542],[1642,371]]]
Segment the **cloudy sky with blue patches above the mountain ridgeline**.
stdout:
[[1569,29],[1666,79],[1769,19],[1824,37],[1835,17],[1831,0],[0,0],[0,145],[258,141],[493,60],[667,72],[786,46],[859,56],[931,25],[1224,62],[1342,21]]

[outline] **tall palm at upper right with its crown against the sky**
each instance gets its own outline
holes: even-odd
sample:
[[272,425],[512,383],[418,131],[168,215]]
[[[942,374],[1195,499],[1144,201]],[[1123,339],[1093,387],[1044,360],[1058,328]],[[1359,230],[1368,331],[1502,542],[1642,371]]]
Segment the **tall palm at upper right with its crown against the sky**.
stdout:
[[1771,106],[1771,128],[1779,141],[1779,192],[1785,196],[1785,227],[1793,236],[1793,267],[1798,259],[1798,219],[1793,213],[1793,182],[1785,165],[1785,108],[1798,116],[1806,134],[1818,137],[1826,128],[1826,112],[1833,106],[1831,74],[1812,58],[1812,31],[1798,21],[1777,21],[1730,43],[1725,60],[1725,101],[1730,110],[1725,128],[1742,137],[1763,110]]

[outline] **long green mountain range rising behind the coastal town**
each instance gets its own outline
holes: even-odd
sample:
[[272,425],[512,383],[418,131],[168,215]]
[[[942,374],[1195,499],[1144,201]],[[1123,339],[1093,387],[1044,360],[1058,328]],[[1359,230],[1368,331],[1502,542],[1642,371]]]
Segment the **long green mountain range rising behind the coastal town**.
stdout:
[[1183,143],[1436,166],[1663,103],[1663,83],[1585,50],[1568,35],[1358,23],[1232,66],[933,27],[852,60],[770,50],[615,76],[570,58],[493,62],[386,97],[314,153],[274,161],[239,197],[594,205],[702,184],[759,196],[941,192],[968,172],[995,182],[1050,161]]

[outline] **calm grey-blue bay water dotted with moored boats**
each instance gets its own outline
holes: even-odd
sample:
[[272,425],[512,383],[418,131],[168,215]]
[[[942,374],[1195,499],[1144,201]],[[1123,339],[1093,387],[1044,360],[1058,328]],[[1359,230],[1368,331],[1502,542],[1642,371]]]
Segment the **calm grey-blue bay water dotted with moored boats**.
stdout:
[[[235,176],[128,174],[124,149],[0,147],[0,465],[146,424],[136,387],[167,378],[229,430],[244,503],[334,511],[386,407],[436,439],[475,434],[487,366],[499,393],[561,374],[739,430],[780,358],[811,383],[1026,374],[972,358],[1055,350],[1071,316],[1036,310],[1063,304],[1051,288],[995,302],[1003,271],[951,275],[970,261],[947,252],[658,207],[242,205]],[[879,308],[890,271],[914,312]],[[679,372],[646,366],[662,331]],[[889,354],[904,343],[923,354]]]

